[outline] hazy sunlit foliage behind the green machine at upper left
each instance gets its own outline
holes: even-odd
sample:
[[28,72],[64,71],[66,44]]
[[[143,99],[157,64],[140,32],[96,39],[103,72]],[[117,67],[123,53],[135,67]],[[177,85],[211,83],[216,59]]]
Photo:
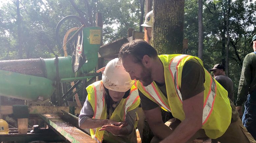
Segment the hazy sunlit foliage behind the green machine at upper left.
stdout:
[[[0,5],[0,60],[17,59],[18,35],[16,0]],[[22,47],[24,58],[50,58],[57,53],[55,29],[58,22],[67,15],[79,15],[71,0],[19,0],[22,17]],[[86,0],[72,0],[89,22]],[[140,4],[138,0],[89,0],[92,22],[95,26],[96,13],[103,17],[103,42],[110,42],[127,36],[128,28],[139,30]],[[81,15],[79,15],[81,16]],[[90,23],[90,22],[89,22]],[[80,27],[75,19],[64,22],[59,31],[62,39],[67,30]]]

